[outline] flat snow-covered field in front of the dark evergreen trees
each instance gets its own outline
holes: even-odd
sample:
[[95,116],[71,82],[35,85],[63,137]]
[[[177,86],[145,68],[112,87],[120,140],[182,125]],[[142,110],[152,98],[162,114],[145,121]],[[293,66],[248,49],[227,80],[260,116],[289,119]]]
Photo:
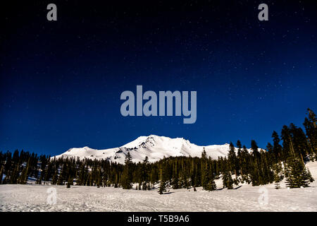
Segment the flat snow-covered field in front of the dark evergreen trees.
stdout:
[[[317,162],[307,164],[317,180]],[[221,180],[216,182],[222,188]],[[47,189],[56,203],[47,203]],[[52,200],[52,199],[49,199]],[[304,189],[240,184],[233,190],[137,191],[94,186],[0,185],[0,211],[317,211],[317,182]]]

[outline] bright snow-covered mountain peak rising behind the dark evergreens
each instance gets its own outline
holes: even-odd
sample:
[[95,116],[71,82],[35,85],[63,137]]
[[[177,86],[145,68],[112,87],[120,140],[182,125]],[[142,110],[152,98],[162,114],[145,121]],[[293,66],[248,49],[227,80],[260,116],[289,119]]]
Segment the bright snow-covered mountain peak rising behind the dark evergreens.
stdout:
[[150,162],[161,160],[164,156],[192,156],[200,157],[205,148],[207,156],[217,159],[219,156],[228,155],[229,144],[199,146],[190,143],[184,138],[168,138],[166,136],[139,136],[135,141],[127,143],[119,148],[108,148],[103,150],[84,148],[70,148],[56,157],[87,157],[91,159],[108,159],[124,163],[125,156],[130,152],[133,162],[141,162],[144,157],[149,157]]

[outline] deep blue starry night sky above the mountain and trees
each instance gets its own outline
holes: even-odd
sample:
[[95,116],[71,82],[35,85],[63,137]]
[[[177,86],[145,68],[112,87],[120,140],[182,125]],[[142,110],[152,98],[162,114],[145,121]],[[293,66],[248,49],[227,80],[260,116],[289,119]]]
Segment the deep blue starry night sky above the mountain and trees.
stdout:
[[[313,1],[10,2],[0,13],[2,151],[56,155],[150,134],[265,148],[273,130],[317,112]],[[49,3],[57,21],[46,20]],[[136,85],[197,91],[196,123],[123,117],[120,94]]]

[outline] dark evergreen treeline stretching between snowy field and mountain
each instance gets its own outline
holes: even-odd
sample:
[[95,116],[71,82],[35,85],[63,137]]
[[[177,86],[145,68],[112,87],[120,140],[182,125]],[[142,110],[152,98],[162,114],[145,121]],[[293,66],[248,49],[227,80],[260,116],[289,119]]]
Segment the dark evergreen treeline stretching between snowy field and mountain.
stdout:
[[[47,155],[24,152],[0,153],[1,184],[26,184],[35,179],[37,184],[78,186],[114,186],[123,189],[154,189],[159,184],[163,193],[167,186],[173,189],[203,186],[212,191],[217,189],[215,179],[222,179],[223,188],[232,189],[234,184],[259,186],[275,183],[286,178],[290,188],[309,186],[313,182],[305,167],[309,160],[317,160],[316,114],[308,109],[304,120],[305,132],[290,124],[283,126],[280,135],[273,131],[273,142],[266,150],[260,150],[256,141],[251,141],[251,152],[237,141],[230,143],[228,156],[213,160],[202,150],[201,157],[168,157],[150,163],[132,162],[130,153],[125,165],[108,160],[80,158],[51,158]],[[236,148],[235,148],[236,146]],[[195,189],[194,189],[195,190]]]

